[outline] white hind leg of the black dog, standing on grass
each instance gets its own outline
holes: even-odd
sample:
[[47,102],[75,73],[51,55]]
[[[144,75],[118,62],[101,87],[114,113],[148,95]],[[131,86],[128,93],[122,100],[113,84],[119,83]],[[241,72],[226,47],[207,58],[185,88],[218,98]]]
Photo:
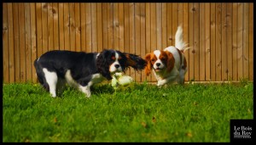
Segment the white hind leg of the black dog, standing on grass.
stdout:
[[43,69],[43,71],[44,71],[45,80],[47,81],[47,83],[49,85],[49,93],[51,94],[51,96],[53,98],[55,98],[58,76],[55,72],[50,72],[49,70],[47,70],[45,68]]

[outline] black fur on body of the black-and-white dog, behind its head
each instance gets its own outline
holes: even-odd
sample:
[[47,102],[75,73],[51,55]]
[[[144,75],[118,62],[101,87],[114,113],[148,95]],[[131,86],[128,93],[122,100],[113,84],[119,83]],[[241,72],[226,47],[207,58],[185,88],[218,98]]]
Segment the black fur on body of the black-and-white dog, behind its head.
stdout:
[[42,68],[57,73],[58,77],[65,78],[67,70],[71,70],[74,80],[96,73],[96,53],[71,51],[49,51],[38,60]]

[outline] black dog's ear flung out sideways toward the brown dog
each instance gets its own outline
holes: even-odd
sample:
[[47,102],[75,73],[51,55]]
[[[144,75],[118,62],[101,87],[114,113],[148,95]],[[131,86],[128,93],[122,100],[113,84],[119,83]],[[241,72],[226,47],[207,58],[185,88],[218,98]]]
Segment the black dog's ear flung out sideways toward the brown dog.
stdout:
[[135,70],[143,70],[147,65],[147,61],[139,57],[138,55],[131,53],[124,53],[126,57],[127,67],[131,66]]

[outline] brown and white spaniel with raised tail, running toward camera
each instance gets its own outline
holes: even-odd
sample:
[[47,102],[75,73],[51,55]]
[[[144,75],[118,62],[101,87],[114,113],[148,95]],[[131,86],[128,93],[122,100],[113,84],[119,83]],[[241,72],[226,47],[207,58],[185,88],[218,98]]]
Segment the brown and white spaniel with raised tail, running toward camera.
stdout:
[[164,50],[154,50],[145,56],[148,64],[145,69],[146,75],[154,72],[157,86],[177,81],[184,83],[184,75],[187,72],[187,61],[184,57],[185,43],[183,42],[183,29],[177,27],[175,35],[175,47],[166,47]]

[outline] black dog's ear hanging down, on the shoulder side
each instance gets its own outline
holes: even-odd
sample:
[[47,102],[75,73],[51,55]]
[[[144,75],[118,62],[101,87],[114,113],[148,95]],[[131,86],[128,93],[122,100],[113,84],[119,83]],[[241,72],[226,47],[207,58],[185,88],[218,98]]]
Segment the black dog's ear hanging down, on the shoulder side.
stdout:
[[111,53],[108,50],[104,49],[96,59],[96,67],[98,71],[108,80],[112,79],[112,76],[110,75],[110,72],[109,72],[109,64],[107,59],[107,57],[110,54]]

